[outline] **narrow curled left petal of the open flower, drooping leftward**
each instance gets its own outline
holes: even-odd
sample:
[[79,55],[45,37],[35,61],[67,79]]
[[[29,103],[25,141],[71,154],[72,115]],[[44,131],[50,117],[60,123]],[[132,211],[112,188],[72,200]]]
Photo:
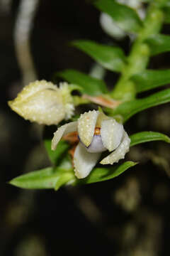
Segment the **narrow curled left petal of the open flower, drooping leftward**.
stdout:
[[69,132],[77,131],[77,121],[70,122],[68,124],[62,125],[57,131],[54,133],[54,137],[52,138],[52,150],[55,150],[60,139]]

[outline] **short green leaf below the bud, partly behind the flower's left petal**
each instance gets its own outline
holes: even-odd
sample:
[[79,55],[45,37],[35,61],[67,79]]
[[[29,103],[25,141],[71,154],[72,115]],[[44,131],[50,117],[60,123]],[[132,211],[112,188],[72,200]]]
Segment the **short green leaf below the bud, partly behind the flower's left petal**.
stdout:
[[51,150],[51,141],[51,139],[44,140],[45,149],[47,150],[47,154],[52,161],[52,164],[57,166],[57,164],[59,164],[61,161],[63,154],[66,154],[68,151],[69,144],[64,140],[60,140],[60,142],[57,144],[57,149],[53,151]]

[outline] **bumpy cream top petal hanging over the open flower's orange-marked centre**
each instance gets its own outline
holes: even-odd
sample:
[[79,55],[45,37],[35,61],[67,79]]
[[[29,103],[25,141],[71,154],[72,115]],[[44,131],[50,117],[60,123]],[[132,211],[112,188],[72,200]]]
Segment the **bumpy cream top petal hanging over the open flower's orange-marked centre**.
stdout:
[[89,146],[94,137],[94,129],[98,118],[99,111],[93,110],[81,114],[78,120],[78,133],[81,142]]

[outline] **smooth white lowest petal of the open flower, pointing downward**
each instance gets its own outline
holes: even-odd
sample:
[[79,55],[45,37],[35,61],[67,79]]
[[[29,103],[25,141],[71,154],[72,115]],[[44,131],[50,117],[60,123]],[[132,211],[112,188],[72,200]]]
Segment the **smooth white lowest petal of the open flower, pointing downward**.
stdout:
[[79,142],[74,152],[74,172],[77,178],[86,178],[96,165],[101,153],[89,153]]

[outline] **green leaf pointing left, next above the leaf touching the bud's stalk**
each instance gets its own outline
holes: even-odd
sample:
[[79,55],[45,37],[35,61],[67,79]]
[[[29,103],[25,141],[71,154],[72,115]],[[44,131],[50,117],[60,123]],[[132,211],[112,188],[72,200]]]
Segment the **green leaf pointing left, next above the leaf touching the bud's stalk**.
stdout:
[[72,45],[90,55],[103,68],[111,71],[120,71],[124,67],[125,55],[119,47],[104,46],[100,43],[85,40],[74,41]]

